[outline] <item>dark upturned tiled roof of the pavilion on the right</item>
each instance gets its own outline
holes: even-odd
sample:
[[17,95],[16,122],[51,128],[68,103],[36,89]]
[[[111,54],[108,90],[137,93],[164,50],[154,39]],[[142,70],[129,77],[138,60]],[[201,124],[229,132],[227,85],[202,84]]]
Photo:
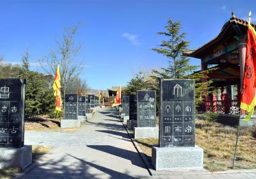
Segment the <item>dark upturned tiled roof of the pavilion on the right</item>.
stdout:
[[[235,26],[237,26],[238,28],[236,28]],[[216,37],[212,38],[212,40],[205,43],[196,50],[184,52],[184,55],[193,58],[202,58],[202,54],[205,52],[205,50],[211,48],[213,45],[216,45],[216,43],[220,43],[223,38],[227,37],[227,33],[230,33],[230,28],[232,29],[232,31],[234,31],[233,33],[236,33],[236,35],[243,35],[246,34],[247,26],[248,21],[239,19],[236,17],[236,15],[234,15],[234,13],[232,13],[232,17],[223,25],[220,33]],[[252,26],[254,28],[256,27],[255,24],[252,24]]]

